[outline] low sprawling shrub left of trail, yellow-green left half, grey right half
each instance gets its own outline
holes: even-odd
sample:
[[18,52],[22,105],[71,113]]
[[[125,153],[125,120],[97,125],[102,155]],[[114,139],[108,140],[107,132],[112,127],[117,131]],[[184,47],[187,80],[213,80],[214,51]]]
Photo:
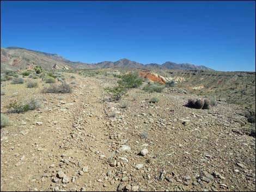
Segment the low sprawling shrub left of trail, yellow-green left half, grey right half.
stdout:
[[16,101],[11,102],[6,108],[8,109],[8,113],[22,113],[27,112],[28,110],[34,110],[40,108],[41,104],[38,100],[34,98],[27,101],[25,104],[19,104]]

